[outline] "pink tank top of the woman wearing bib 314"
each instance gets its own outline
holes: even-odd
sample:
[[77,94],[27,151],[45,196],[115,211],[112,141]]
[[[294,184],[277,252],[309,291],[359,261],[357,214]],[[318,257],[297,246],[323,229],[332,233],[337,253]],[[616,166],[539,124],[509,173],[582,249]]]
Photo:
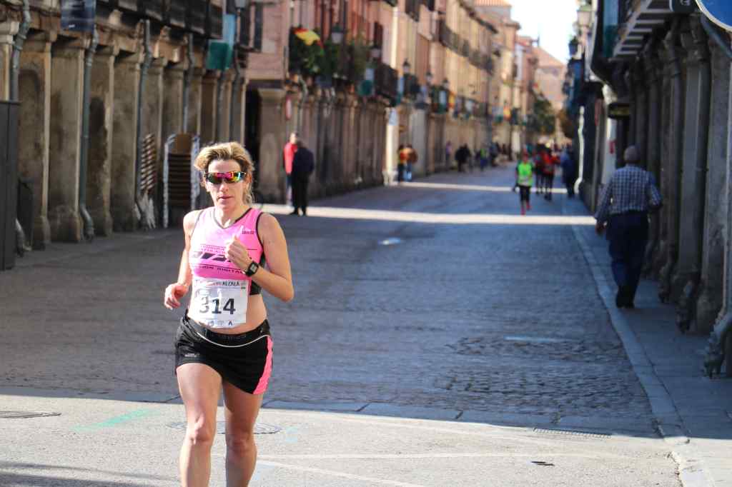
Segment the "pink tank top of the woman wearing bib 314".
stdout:
[[224,248],[226,241],[235,236],[247,246],[252,260],[261,264],[263,248],[257,233],[257,223],[261,214],[262,212],[256,208],[249,208],[247,213],[231,227],[224,228],[217,222],[213,207],[202,210],[190,238],[188,262],[193,276],[251,281],[252,279],[236,267],[236,264],[226,260]]

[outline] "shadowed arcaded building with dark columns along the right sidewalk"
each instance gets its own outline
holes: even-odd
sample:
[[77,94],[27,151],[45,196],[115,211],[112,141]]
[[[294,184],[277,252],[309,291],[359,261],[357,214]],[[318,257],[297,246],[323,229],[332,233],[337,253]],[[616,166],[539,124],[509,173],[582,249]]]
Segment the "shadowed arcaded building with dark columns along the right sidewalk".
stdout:
[[660,184],[646,275],[682,333],[709,333],[710,374],[732,356],[730,45],[694,2],[581,2],[566,86],[586,204],[630,145]]

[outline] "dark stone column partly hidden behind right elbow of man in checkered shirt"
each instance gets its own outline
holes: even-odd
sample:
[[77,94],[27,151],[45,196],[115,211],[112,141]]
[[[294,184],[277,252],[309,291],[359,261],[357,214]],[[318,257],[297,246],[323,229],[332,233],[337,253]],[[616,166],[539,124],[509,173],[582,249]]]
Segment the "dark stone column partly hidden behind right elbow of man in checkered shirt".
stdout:
[[[646,88],[648,99],[648,137],[646,140],[646,168],[655,176],[660,184],[661,172],[661,112],[662,112],[662,64],[657,56],[659,46],[653,42],[643,53],[646,68]],[[649,243],[646,247],[646,263],[643,273],[654,276],[654,257],[659,252],[661,239],[661,219],[658,212],[651,214],[649,226]]]

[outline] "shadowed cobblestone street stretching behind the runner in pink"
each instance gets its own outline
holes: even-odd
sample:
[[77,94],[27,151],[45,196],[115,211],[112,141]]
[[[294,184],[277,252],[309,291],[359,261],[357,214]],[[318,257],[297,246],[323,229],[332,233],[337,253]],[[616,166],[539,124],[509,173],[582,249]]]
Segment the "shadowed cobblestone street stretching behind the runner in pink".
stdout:
[[[320,200],[307,217],[266,206],[288,238],[296,295],[266,298],[275,364],[264,418],[314,409],[587,423],[659,441],[572,233],[593,220],[563,212],[559,191],[553,202],[532,195],[522,217],[512,182],[499,167]],[[179,313],[161,301],[182,240],[160,230],[54,244],[0,274],[0,393],[174,403]],[[265,436],[271,453],[277,435]],[[678,485],[673,461],[651,450],[639,458],[653,458],[643,478],[654,483],[637,485]],[[607,478],[597,485],[630,485]]]

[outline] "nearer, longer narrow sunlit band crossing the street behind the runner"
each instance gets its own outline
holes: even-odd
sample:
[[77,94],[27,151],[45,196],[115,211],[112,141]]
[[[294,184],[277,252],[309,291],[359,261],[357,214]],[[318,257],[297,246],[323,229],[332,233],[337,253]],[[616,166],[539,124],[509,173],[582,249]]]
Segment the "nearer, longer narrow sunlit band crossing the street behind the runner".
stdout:
[[[285,205],[267,205],[271,214],[288,215]],[[307,216],[350,220],[377,220],[384,222],[411,222],[430,224],[504,224],[504,225],[592,225],[591,216],[479,214],[479,213],[425,213],[419,211],[365,210],[363,208],[336,208],[309,206]]]

